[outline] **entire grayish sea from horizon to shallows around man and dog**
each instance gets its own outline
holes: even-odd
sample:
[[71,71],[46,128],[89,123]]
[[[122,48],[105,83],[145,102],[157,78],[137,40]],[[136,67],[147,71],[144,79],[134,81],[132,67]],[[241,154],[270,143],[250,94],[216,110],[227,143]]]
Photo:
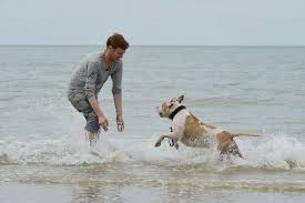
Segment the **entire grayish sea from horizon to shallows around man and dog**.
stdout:
[[[0,202],[304,200],[305,48],[131,48],[125,132],[115,131],[110,80],[100,94],[110,131],[90,149],[65,90],[96,49],[0,47]],[[177,94],[206,123],[263,136],[236,139],[245,160],[167,141],[155,149],[170,126],[155,106]]]

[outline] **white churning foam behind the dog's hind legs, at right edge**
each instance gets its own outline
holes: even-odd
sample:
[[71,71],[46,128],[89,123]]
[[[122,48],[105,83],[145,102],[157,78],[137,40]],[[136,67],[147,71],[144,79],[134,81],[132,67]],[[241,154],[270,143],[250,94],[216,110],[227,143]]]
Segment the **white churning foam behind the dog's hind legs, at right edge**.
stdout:
[[237,143],[246,158],[244,163],[250,166],[305,170],[305,145],[283,132],[265,134],[256,144],[251,139],[241,139]]

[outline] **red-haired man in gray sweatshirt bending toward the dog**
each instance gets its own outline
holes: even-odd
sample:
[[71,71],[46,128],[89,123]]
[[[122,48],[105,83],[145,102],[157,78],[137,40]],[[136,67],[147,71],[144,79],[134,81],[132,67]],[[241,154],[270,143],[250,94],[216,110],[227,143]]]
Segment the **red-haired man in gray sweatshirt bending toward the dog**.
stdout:
[[108,39],[104,52],[95,52],[85,57],[72,74],[68,99],[79,112],[83,113],[87,120],[85,131],[90,144],[99,138],[100,126],[108,131],[109,122],[98,102],[98,94],[109,75],[113,82],[112,93],[118,131],[124,130],[121,89],[123,64],[121,59],[128,48],[129,42],[124,37],[114,33]]

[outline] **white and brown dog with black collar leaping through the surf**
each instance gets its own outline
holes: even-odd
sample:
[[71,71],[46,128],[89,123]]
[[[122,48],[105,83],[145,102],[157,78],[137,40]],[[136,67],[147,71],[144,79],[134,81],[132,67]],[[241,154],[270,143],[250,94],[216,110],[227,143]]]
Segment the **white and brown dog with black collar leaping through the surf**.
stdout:
[[169,138],[170,141],[172,141],[170,144],[174,145],[176,149],[179,148],[179,141],[192,148],[211,149],[216,144],[221,154],[232,154],[243,158],[233,139],[241,135],[260,136],[247,133],[231,133],[211,124],[205,124],[181,104],[183,99],[184,95],[180,95],[177,99],[163,102],[161,106],[156,108],[161,118],[169,118],[172,120],[172,132],[161,135],[155,146],[160,146],[164,138]]

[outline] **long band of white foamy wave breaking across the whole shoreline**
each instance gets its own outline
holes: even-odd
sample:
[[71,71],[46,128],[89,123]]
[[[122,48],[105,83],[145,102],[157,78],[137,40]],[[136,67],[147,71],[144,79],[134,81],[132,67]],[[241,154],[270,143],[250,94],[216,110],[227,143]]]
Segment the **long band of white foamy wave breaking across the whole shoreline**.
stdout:
[[[305,171],[305,144],[285,133],[264,134],[261,138],[235,139],[245,159],[220,161],[216,150],[193,149],[181,144],[180,150],[164,142],[154,148],[155,138],[132,141],[122,146],[103,138],[93,148],[82,135],[61,140],[18,141],[13,138],[0,143],[0,164],[82,165],[113,162],[149,163],[163,166],[200,165],[203,170],[299,170]],[[129,141],[126,141],[129,142]],[[120,144],[119,144],[120,145]]]

